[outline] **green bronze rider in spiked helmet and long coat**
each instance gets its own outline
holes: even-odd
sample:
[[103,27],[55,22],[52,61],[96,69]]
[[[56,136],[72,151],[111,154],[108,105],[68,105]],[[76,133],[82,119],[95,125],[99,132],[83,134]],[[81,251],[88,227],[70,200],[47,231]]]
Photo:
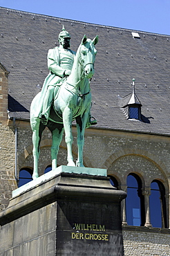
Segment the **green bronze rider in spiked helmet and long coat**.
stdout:
[[[50,70],[50,73],[46,77],[41,90],[42,102],[40,104],[42,104],[42,106],[40,106],[41,110],[39,115],[39,118],[41,118],[41,122],[44,125],[47,125],[50,115],[50,107],[53,102],[55,86],[59,86],[59,82],[64,80],[64,77],[70,75],[73,67],[75,52],[71,51],[69,47],[70,35],[63,26],[62,32],[59,33],[59,47],[55,47],[48,51],[48,69]],[[96,124],[97,121],[95,118],[94,120],[91,120],[91,116],[89,116],[89,122],[86,124],[86,127]]]

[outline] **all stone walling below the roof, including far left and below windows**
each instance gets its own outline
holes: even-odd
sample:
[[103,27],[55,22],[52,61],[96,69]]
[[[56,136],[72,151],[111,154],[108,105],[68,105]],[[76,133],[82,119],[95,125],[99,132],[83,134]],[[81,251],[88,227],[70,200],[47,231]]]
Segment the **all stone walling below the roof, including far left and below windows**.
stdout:
[[[23,167],[33,168],[32,131],[29,122],[16,121],[17,127],[17,176]],[[1,125],[1,210],[8,205],[11,191],[17,188],[15,181],[15,127]],[[73,156],[77,158],[76,129],[73,127]],[[50,165],[52,138],[46,129],[41,139],[39,174]],[[58,165],[66,165],[66,143],[60,145]],[[153,179],[164,184],[167,198],[167,222],[169,223],[169,174],[170,138],[151,134],[137,134],[124,131],[86,129],[84,145],[84,165],[106,168],[115,176],[119,188],[126,187],[126,177],[133,172],[140,176],[144,188],[149,188]],[[136,227],[135,227],[136,228]],[[139,228],[139,227],[138,227]],[[133,230],[124,228],[125,255],[169,255],[169,230],[141,227]],[[162,229],[163,230],[163,229]],[[153,232],[154,231],[154,232]],[[158,250],[159,248],[159,250]]]

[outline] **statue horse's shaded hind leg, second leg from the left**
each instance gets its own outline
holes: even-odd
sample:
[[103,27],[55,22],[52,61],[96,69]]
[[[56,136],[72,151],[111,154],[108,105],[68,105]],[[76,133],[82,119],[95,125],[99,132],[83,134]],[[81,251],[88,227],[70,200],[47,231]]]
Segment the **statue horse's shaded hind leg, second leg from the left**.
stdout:
[[51,146],[51,159],[52,159],[52,170],[54,171],[57,168],[57,154],[59,152],[59,145],[62,141],[63,135],[63,125],[60,128],[56,128],[52,131],[53,143]]

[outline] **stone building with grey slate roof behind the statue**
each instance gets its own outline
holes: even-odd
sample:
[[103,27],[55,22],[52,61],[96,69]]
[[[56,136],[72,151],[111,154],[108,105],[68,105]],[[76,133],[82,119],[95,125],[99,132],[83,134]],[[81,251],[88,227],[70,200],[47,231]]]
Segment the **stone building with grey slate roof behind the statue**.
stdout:
[[[0,210],[8,206],[12,190],[17,188],[19,171],[33,170],[29,107],[32,98],[39,90],[37,89],[39,86],[35,85],[42,84],[48,73],[46,51],[52,46],[49,35],[46,35],[46,29],[49,28],[50,36],[55,39],[54,26],[58,33],[62,22],[73,37],[77,37],[77,28],[81,28],[86,30],[91,37],[98,33],[101,39],[97,49],[96,73],[91,82],[92,114],[97,118],[98,125],[86,129],[84,165],[106,168],[108,176],[113,179],[117,189],[124,190],[127,194],[129,193],[128,176],[133,176],[141,185],[141,188],[138,188],[141,190],[142,205],[140,226],[129,225],[126,211],[129,207],[128,201],[122,202],[124,255],[170,255],[170,120],[168,118],[170,46],[168,37],[139,32],[140,39],[132,39],[129,36],[131,30],[84,24],[54,17],[48,18],[44,15],[33,15],[6,8],[0,8],[0,11],[4,21],[1,35],[4,45],[1,47],[2,54],[0,55]],[[16,27],[13,31],[12,28],[6,28],[5,21],[14,20],[20,26],[20,34]],[[23,23],[24,28],[20,22]],[[30,35],[27,34],[26,26],[32,29]],[[40,53],[39,44],[35,42],[37,26],[41,32],[39,44],[44,40],[41,42]],[[26,30],[24,38],[21,38],[22,29]],[[84,34],[84,31],[81,33]],[[14,48],[20,49],[22,60],[18,60],[19,51],[9,50],[9,38],[15,39]],[[103,45],[102,40],[105,38],[106,44]],[[77,46],[75,41],[74,44]],[[113,48],[112,45],[114,45]],[[28,48],[30,59],[23,63],[24,57],[28,59],[26,53]],[[6,58],[4,51],[8,53]],[[36,53],[38,53],[37,59],[31,62]],[[30,66],[27,63],[29,61]],[[37,68],[39,62],[41,66]],[[108,62],[113,64],[110,69]],[[110,72],[106,71],[103,77],[101,66],[105,64]],[[22,75],[23,81],[19,75],[20,77]],[[127,86],[131,84],[130,77],[132,79],[132,76],[138,77],[136,94],[131,93],[131,86]],[[117,94],[126,96],[129,93],[135,97],[138,95],[142,107],[137,104],[136,100],[129,105],[126,98],[122,98],[126,103],[121,106],[117,104]],[[124,112],[131,106],[141,108],[142,119],[126,118]],[[76,160],[75,125],[73,125],[73,137],[73,156]],[[46,129],[40,145],[40,175],[44,174],[46,167],[51,165],[51,143],[50,131]],[[57,164],[67,164],[64,138],[60,145]],[[164,201],[161,199],[160,203],[162,225],[159,228],[152,224],[151,204],[149,203],[151,183],[154,182],[158,183],[164,192]]]

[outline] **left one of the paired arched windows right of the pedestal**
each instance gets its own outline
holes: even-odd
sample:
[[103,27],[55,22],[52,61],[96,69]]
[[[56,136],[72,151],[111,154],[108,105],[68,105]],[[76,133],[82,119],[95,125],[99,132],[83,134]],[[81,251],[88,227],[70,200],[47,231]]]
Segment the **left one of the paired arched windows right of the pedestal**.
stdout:
[[144,226],[142,181],[137,174],[127,176],[126,221],[131,226]]

